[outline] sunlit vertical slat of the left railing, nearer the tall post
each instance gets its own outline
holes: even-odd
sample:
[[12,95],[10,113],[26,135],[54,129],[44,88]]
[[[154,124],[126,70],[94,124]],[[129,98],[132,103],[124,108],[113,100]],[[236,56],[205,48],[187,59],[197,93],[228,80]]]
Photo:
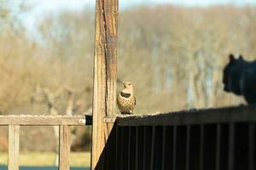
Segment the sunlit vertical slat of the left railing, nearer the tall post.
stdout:
[[60,126],[59,170],[69,170],[70,127]]

